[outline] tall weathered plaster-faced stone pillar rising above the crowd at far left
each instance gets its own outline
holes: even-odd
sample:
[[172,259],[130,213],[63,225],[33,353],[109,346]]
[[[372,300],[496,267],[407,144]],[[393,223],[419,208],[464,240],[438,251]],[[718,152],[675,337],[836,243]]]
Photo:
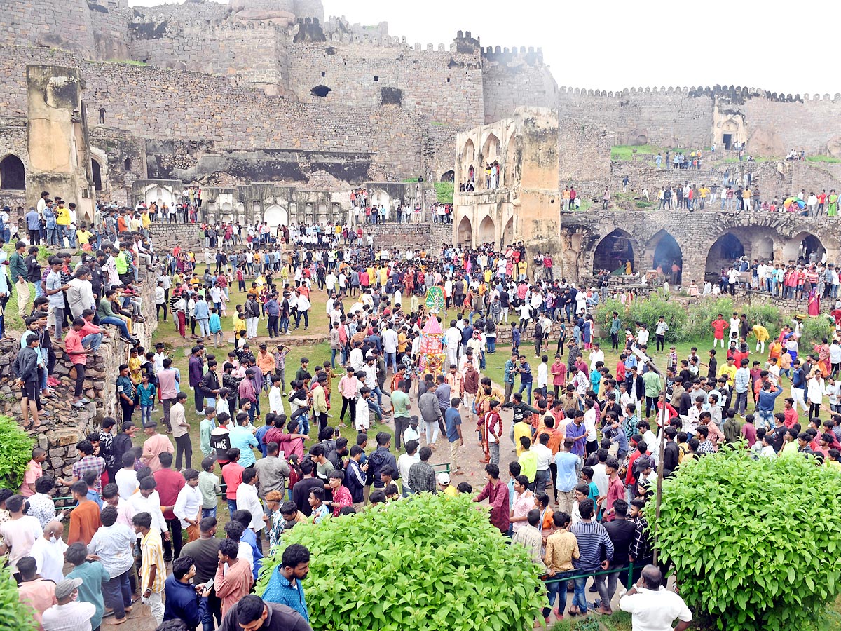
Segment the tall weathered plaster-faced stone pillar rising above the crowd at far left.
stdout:
[[93,220],[94,189],[82,77],[75,68],[26,66],[28,105],[26,203],[41,191],[75,202],[79,220]]

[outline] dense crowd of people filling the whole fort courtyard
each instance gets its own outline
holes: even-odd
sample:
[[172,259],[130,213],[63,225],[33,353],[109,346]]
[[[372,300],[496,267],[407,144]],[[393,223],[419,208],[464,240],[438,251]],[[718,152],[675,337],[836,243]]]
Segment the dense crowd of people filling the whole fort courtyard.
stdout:
[[[103,227],[109,216],[130,215],[102,211]],[[197,256],[181,247],[156,252],[143,222],[118,219],[114,241],[103,236],[101,249],[74,268],[69,255],[50,258],[35,284],[44,295],[31,308],[16,289],[29,314],[14,367],[25,422],[49,415],[41,396],[56,396],[50,335],[75,369],[74,406],[88,403],[86,358],[103,336],[119,331],[129,346],[116,383],[119,421],[106,418],[78,443],[71,478],[44,475],[46,453],[36,448],[23,485],[0,491],[9,565],[46,631],[88,613],[97,628],[104,607],[113,610],[105,623],[119,624],[137,597],[165,629],[201,623],[227,630],[258,618],[263,627],[253,628],[270,628],[269,619],[309,628],[301,582],[309,551],[285,547],[267,590],[247,596],[262,554],[283,548],[284,533],[297,523],[420,492],[488,500],[490,522],[531,551],[547,580],[547,620],[612,612],[632,564],[638,587],[620,607],[636,616],[656,603],[685,623],[688,610],[670,596],[665,602],[662,568],[650,565],[646,515],[658,471],[674,475],[741,441],[757,458],[805,454],[839,466],[838,334],[803,349],[799,326],[771,339],[745,315],[718,315],[708,353],[692,349],[679,358],[674,346],[666,350],[663,318],[627,323],[616,313],[601,323],[618,353],[614,367],[594,337],[593,310],[604,296],[554,279],[551,257],[529,260],[521,244],[401,251],[345,244],[335,229],[290,227],[281,247],[259,226],[246,239],[238,232],[226,238],[229,225],[214,236],[206,229],[205,239],[217,241],[206,241],[214,247]],[[17,245],[9,271],[26,280],[29,246]],[[186,383],[165,344],[147,350],[132,335],[142,319],[133,284],[150,272],[144,268],[156,275],[157,318],[172,317],[193,344]],[[824,278],[818,289],[821,278],[806,277],[821,294],[832,295],[835,281]],[[441,300],[428,301],[436,292]],[[331,359],[301,358],[287,383],[283,340],[309,327],[314,308],[324,309]],[[430,316],[443,331],[437,363],[422,357]],[[501,326],[510,328],[511,355],[494,374],[487,360]],[[233,349],[217,358],[212,351],[230,337]],[[527,350],[525,340],[533,343]],[[666,359],[664,370],[649,353]],[[775,412],[786,382],[791,396]],[[200,420],[196,463],[193,415]],[[341,435],[346,425],[352,438]],[[473,440],[478,457],[466,458],[464,445]],[[483,488],[459,480],[483,465]],[[51,499],[61,485],[76,502],[71,509],[56,509]],[[220,510],[227,511],[225,538],[216,533]],[[74,569],[64,574],[66,564]],[[595,605],[587,597],[590,576]]]

